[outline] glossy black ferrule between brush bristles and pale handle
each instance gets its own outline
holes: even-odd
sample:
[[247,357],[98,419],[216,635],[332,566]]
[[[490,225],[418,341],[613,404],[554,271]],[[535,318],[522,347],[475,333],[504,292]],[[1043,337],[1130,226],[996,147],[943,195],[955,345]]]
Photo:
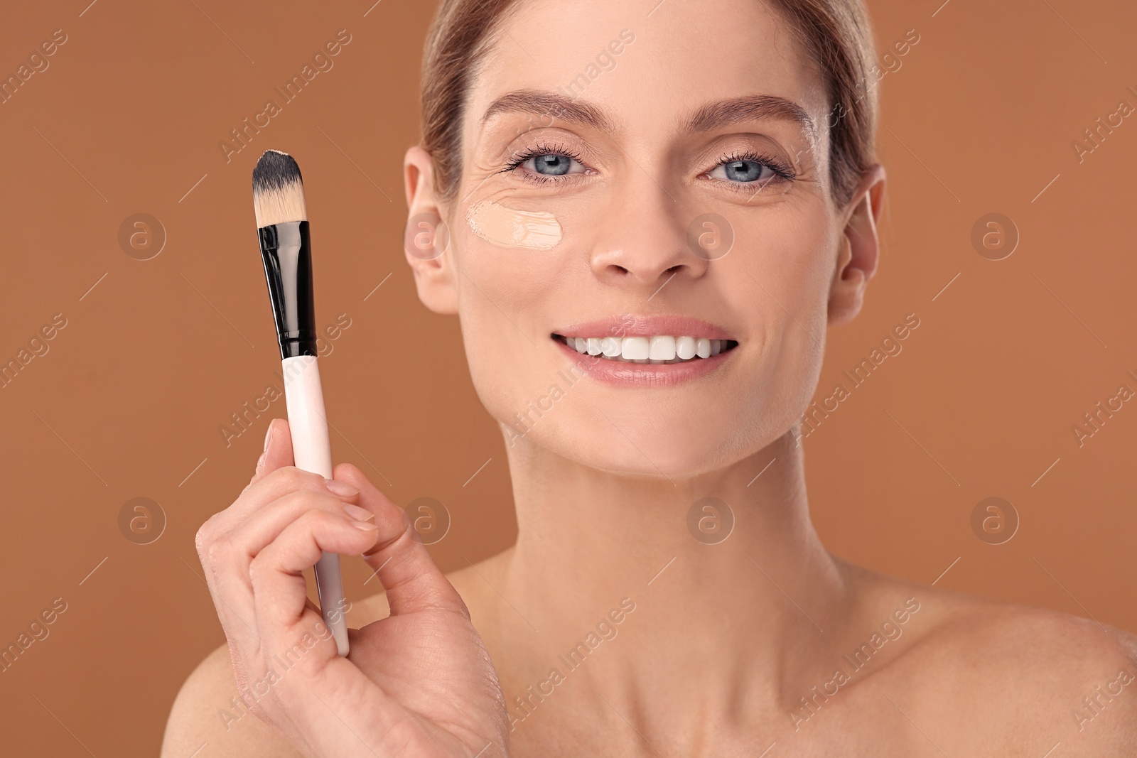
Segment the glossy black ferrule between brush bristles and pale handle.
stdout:
[[284,222],[257,230],[268,298],[276,320],[281,360],[316,355],[316,310],[312,286],[308,222]]

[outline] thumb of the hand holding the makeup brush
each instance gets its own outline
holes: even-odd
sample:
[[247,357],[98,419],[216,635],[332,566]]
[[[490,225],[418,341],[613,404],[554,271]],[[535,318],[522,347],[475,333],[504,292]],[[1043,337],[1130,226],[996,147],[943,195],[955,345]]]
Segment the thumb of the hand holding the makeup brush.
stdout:
[[379,539],[363,558],[383,583],[391,615],[446,608],[468,617],[462,597],[439,570],[426,545],[415,539],[406,513],[351,464],[340,464],[334,474],[338,481],[358,488],[359,505],[375,514]]

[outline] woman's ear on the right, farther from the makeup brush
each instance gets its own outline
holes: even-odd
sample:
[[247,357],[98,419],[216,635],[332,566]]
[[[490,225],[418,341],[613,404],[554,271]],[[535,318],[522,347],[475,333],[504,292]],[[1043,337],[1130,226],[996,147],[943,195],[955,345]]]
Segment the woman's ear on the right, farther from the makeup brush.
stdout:
[[885,202],[885,167],[869,168],[845,211],[845,226],[829,289],[829,324],[837,326],[861,311],[864,290],[877,273],[880,239],[877,219]]

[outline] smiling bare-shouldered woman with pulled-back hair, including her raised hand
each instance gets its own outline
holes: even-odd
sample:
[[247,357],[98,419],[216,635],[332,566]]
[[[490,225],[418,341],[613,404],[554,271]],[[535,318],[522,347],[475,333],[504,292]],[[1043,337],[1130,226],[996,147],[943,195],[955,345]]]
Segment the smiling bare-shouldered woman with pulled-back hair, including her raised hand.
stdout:
[[[810,523],[798,419],[879,252],[858,0],[653,5],[447,0],[428,44],[409,227],[448,234],[407,260],[501,424],[516,545],[442,576],[275,420],[199,532],[229,645],[164,755],[1137,755],[1131,635],[869,573]],[[385,588],[347,659],[321,549]]]

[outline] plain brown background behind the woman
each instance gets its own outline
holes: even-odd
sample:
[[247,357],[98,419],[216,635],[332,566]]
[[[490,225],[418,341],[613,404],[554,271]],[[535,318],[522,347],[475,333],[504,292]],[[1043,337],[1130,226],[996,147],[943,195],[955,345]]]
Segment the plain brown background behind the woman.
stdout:
[[[400,161],[433,2],[89,1],[9,2],[0,22],[3,74],[68,36],[0,106],[0,360],[67,318],[0,389],[0,647],[68,603],[0,673],[10,755],[156,755],[180,684],[223,641],[193,535],[284,416],[277,400],[227,448],[218,432],[281,386],[249,190],[268,147],[305,172],[319,325],[351,319],[322,359],[334,458],[385,477],[396,502],[448,506],[432,548],[445,569],[515,535],[458,324],[417,302],[402,261]],[[814,519],[873,569],[1137,630],[1137,401],[1081,448],[1071,433],[1119,384],[1137,389],[1137,119],[1080,164],[1071,148],[1137,105],[1137,7],[940,2],[870,2],[881,53],[908,28],[921,40],[881,83],[882,266],[862,316],[830,335],[819,397],[905,314],[921,325],[804,442]],[[334,68],[226,164],[218,142],[341,28]],[[119,247],[136,213],[167,235],[150,260]],[[972,248],[988,213],[1021,234],[1004,260]],[[971,528],[990,495],[1021,518],[1005,544]],[[168,519],[151,544],[119,531],[135,497]],[[366,577],[346,561],[349,597],[375,589]]]

